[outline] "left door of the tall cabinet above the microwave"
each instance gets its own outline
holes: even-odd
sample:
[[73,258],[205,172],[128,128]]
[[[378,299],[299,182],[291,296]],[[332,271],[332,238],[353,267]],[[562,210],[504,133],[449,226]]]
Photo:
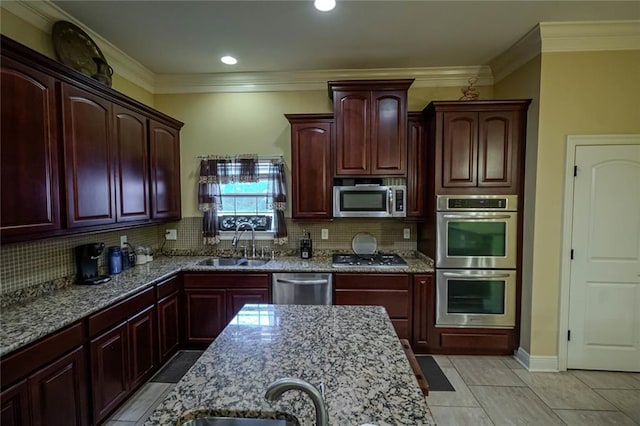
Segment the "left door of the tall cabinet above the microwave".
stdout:
[[336,175],[367,175],[370,157],[369,91],[335,91]]

